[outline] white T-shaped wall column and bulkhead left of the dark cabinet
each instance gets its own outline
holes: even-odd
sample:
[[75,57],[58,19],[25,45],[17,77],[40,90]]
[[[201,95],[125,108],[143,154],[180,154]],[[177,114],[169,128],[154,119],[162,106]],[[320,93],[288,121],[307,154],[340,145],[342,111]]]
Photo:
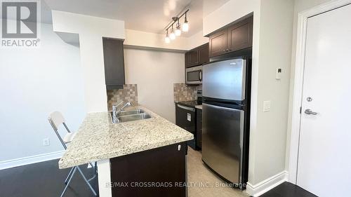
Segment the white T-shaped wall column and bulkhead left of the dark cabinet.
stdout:
[[124,21],[53,11],[53,30],[79,34],[86,111],[107,111],[102,37],[124,39]]

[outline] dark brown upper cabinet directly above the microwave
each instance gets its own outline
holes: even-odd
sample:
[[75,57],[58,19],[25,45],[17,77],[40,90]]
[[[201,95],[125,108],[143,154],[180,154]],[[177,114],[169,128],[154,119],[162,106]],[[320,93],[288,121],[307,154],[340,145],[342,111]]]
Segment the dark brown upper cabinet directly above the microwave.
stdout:
[[185,67],[195,67],[207,63],[208,59],[208,43],[197,48],[189,50],[185,53]]

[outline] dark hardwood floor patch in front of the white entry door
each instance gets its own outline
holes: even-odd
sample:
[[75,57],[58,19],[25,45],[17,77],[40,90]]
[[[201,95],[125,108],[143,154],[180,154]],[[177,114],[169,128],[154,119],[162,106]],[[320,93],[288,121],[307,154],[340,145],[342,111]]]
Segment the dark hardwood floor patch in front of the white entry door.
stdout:
[[300,186],[284,182],[274,187],[274,189],[267,191],[260,197],[318,197]]

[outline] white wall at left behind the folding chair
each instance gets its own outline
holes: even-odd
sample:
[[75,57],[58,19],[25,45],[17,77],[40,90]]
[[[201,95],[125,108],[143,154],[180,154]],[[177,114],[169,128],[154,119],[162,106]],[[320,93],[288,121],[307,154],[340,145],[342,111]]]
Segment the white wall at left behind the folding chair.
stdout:
[[0,162],[63,150],[48,123],[52,111],[61,111],[72,130],[85,116],[79,48],[40,25],[39,48],[0,48]]

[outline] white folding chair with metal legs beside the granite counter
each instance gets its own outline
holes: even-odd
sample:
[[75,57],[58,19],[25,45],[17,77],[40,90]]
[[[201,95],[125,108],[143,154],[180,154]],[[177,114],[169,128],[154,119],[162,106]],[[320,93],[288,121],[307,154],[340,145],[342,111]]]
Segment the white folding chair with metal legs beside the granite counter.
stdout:
[[[53,127],[53,130],[55,131],[56,135],[58,136],[58,140],[60,140],[62,146],[67,149],[66,144],[71,142],[74,138],[74,136],[76,135],[76,133],[72,133],[69,128],[67,127],[66,123],[65,123],[65,118],[63,118],[62,114],[59,111],[54,111],[53,113],[51,113],[48,116],[48,121],[51,124],[51,126]],[[60,133],[58,133],[58,126],[60,124],[63,124],[67,130],[67,134],[65,135],[65,137],[61,137]],[[97,174],[97,166],[96,166],[96,162],[95,165],[91,164],[90,165],[93,167],[94,169],[94,176],[91,179],[86,179],[86,177],[84,176],[83,172],[81,172],[81,168],[79,168],[79,166],[74,166],[68,173],[67,178],[65,179],[65,189],[62,191],[61,193],[61,197],[65,194],[67,187],[69,186],[69,183],[72,180],[72,177],[74,175],[74,173],[78,170],[81,174],[81,176],[83,177],[84,181],[86,182],[86,184],[88,184],[89,188],[91,189],[91,191],[93,192],[94,196],[97,196],[95,190],[93,189],[93,187],[91,186],[91,184],[89,183],[92,179],[94,179],[96,177]]]

